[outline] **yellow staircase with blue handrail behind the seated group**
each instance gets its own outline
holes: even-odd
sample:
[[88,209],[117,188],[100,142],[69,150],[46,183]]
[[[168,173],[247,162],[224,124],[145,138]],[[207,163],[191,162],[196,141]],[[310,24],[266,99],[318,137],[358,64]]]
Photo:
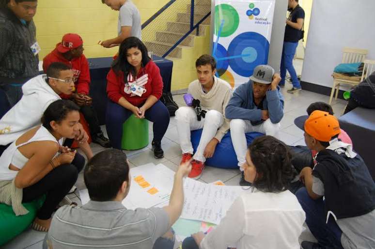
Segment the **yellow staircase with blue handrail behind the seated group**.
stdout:
[[[149,51],[163,56],[190,30],[190,0],[176,0],[164,9],[155,21],[142,29],[142,41]],[[211,11],[210,0],[195,0],[193,25]],[[151,19],[151,18],[150,18]],[[195,60],[203,54],[210,54],[210,16],[197,29],[166,56],[173,61],[172,92],[186,91],[188,84],[197,78]]]

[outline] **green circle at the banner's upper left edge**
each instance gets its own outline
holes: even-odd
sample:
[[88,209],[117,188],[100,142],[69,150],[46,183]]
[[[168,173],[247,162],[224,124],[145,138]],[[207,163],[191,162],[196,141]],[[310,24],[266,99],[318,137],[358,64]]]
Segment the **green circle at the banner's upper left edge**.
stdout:
[[[227,37],[237,30],[239,15],[229,4],[219,4],[215,7],[215,35]],[[220,27],[222,26],[221,30]],[[220,33],[220,34],[219,34]]]

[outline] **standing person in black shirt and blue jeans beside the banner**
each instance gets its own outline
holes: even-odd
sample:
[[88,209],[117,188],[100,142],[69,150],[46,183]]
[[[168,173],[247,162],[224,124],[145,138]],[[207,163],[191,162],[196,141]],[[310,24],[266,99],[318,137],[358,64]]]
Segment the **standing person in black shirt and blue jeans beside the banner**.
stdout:
[[280,86],[283,87],[285,84],[286,70],[288,70],[292,79],[293,88],[287,92],[294,93],[301,90],[301,85],[297,78],[296,70],[293,67],[293,58],[296,54],[298,41],[302,39],[302,28],[303,21],[305,19],[305,12],[302,7],[299,6],[298,0],[289,0],[288,11],[290,11],[289,17],[286,19],[284,45],[282,47],[280,74],[281,82]]

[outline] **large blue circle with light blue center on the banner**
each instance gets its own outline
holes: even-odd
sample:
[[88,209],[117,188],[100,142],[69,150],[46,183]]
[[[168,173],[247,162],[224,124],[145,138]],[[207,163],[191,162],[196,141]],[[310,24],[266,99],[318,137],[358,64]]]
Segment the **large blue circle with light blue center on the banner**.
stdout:
[[250,77],[257,65],[268,60],[269,42],[266,37],[255,32],[244,32],[236,36],[228,46],[228,56],[232,70]]

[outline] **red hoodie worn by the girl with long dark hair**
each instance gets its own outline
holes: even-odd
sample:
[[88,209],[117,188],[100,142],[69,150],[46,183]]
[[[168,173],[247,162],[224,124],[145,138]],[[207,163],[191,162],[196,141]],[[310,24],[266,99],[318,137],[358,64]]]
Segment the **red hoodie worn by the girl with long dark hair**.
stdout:
[[[125,86],[123,72],[120,71],[116,74],[113,69],[111,69],[107,75],[108,98],[114,103],[118,103],[120,98],[124,97],[128,102],[135,106],[140,106],[143,104],[150,95],[160,99],[163,93],[163,79],[161,78],[160,70],[154,61],[150,60],[144,68],[141,68],[137,75],[137,79],[144,80],[137,83],[137,85],[140,85],[146,89],[141,97],[130,92],[129,87],[131,84],[129,85],[126,83]],[[147,79],[147,82],[145,79]],[[135,83],[134,80],[136,79],[128,76],[128,82]]]

